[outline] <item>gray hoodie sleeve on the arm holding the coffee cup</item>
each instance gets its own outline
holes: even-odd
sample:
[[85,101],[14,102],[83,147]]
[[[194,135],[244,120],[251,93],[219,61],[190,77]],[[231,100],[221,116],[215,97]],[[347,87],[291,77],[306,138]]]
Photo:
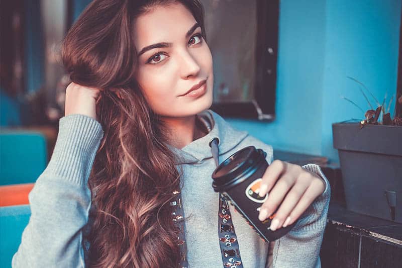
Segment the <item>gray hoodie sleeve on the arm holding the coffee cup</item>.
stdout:
[[320,175],[325,181],[326,188],[324,193],[318,196],[300,216],[293,229],[285,236],[275,240],[272,253],[274,268],[321,267],[319,254],[327,224],[331,188],[318,165],[308,164],[303,168]]

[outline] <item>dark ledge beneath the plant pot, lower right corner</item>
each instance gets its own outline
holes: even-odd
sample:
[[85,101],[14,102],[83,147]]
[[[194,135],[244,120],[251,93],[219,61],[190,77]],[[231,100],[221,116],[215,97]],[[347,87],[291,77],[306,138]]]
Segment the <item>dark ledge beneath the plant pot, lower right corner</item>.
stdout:
[[332,202],[322,267],[401,267],[402,224],[348,211]]

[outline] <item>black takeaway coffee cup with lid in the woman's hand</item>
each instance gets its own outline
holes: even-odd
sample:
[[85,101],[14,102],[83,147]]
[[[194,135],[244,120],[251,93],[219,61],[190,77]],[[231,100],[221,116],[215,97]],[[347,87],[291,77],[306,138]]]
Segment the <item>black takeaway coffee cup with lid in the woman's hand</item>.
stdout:
[[[249,225],[267,242],[287,234],[293,224],[276,231],[269,229],[276,213],[264,221],[258,219],[259,208],[268,198],[258,195],[262,175],[268,167],[266,152],[254,146],[245,147],[223,161],[212,173],[215,192],[221,192],[236,207]],[[278,208],[280,205],[278,206]]]

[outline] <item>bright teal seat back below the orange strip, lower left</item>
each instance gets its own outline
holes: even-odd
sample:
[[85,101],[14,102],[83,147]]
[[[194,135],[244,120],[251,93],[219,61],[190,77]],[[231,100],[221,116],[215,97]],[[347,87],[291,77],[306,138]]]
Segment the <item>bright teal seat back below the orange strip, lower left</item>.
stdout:
[[29,205],[0,207],[0,267],[11,267],[30,216]]

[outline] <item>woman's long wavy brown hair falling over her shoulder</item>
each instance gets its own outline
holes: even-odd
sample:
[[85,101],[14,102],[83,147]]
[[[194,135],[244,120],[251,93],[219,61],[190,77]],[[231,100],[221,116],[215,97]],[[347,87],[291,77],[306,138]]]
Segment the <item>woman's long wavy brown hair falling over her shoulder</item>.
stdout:
[[169,201],[181,188],[181,171],[167,147],[168,129],[134,78],[132,33],[138,16],[177,2],[205,36],[198,0],[95,0],[63,42],[71,80],[101,90],[96,110],[105,135],[89,174],[93,213],[84,236],[91,267],[176,267],[179,262]]

